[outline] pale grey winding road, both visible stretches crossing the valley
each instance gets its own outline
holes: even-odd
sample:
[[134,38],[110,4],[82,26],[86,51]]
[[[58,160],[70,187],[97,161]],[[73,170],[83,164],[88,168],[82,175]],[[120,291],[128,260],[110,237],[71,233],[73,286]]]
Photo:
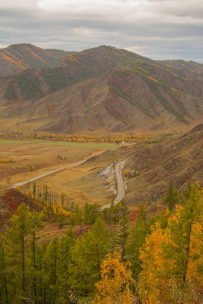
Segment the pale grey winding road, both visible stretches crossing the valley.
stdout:
[[[60,167],[58,169],[55,169],[55,170],[52,170],[52,171],[49,171],[49,172],[46,172],[44,174],[41,174],[41,175],[38,175],[36,177],[33,177],[33,178],[30,178],[29,180],[26,180],[24,182],[20,182],[20,183],[16,183],[16,184],[13,184],[13,185],[10,185],[10,186],[6,186],[6,188],[15,188],[16,186],[22,186],[22,185],[25,185],[27,184],[28,182],[33,182],[41,177],[44,177],[44,176],[47,176],[49,174],[53,174],[57,171],[61,171],[63,169],[66,169],[66,168],[70,168],[70,167],[73,167],[73,166],[77,166],[77,165],[80,165],[82,163],[86,162],[86,160],[82,160],[80,162],[76,162],[74,164],[71,164],[71,165],[67,165],[67,166],[64,166],[64,167]],[[118,194],[113,202],[114,205],[116,205],[118,202],[120,202],[124,196],[124,193],[125,193],[125,189],[124,189],[124,185],[123,185],[123,179],[122,179],[122,173],[121,173],[121,166],[125,163],[125,160],[124,161],[121,161],[119,163],[117,163],[115,165],[115,172],[116,172],[116,179],[117,179],[117,186],[118,186]],[[102,206],[101,209],[105,209],[105,208],[109,208],[111,206],[111,203],[105,205],[105,206]]]

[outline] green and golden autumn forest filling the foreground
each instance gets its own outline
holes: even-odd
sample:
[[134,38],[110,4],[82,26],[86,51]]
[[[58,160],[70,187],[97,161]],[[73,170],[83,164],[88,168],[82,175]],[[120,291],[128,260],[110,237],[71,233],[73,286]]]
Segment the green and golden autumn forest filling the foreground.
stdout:
[[[179,194],[171,181],[163,198],[166,210],[149,217],[140,204],[134,225],[125,202],[112,203],[111,212],[97,208],[95,213],[87,205],[76,223],[85,226],[79,235],[70,221],[74,209],[54,215],[45,205],[39,211],[36,198],[23,197],[0,234],[0,303],[203,303],[203,188],[198,182]],[[31,211],[30,200],[36,210]],[[1,201],[6,203],[3,196]],[[47,241],[42,231],[53,216],[58,235]],[[60,233],[64,220],[67,229]]]

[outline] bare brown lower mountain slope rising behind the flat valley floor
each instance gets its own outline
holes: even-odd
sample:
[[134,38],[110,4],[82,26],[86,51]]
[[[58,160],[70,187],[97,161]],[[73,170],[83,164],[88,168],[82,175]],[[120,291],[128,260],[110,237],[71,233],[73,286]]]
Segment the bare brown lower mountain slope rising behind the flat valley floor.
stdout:
[[[188,89],[181,85],[183,91]],[[186,116],[188,123],[169,112],[139,75],[109,71],[39,100],[7,102],[0,111],[0,131],[174,133],[202,121],[200,97],[179,91],[174,100],[162,92],[177,113],[181,114],[184,104],[191,115]]]

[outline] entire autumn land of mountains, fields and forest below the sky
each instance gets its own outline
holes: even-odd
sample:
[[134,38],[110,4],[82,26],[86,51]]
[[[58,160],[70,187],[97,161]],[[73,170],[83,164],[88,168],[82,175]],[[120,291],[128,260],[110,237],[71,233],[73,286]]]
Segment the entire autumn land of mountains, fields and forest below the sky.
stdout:
[[0,303],[203,303],[203,65],[17,44],[0,73]]

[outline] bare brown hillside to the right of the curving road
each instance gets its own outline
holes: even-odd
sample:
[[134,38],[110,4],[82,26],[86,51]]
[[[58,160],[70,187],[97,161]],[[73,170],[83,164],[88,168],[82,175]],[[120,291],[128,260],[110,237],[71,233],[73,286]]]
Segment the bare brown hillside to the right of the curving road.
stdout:
[[130,204],[162,202],[171,179],[179,193],[188,182],[203,184],[203,124],[166,142],[134,145],[125,169],[131,174],[126,182]]

